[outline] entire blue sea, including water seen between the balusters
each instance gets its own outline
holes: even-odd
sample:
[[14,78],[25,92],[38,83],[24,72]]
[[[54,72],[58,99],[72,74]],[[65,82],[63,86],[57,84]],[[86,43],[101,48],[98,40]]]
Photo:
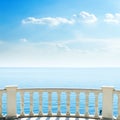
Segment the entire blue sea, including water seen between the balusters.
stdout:
[[[16,85],[18,88],[87,88],[101,89],[113,86],[120,89],[120,68],[0,68],[0,89]],[[80,113],[85,113],[85,95],[80,94]],[[39,111],[39,95],[33,95],[33,111]],[[66,113],[66,94],[61,94],[61,112]],[[25,93],[24,112],[30,112],[30,96]],[[118,114],[117,96],[113,99],[113,114]],[[2,113],[7,114],[7,95],[2,96]],[[20,114],[20,94],[17,93],[17,113]],[[95,112],[94,94],[89,95],[89,113]],[[102,109],[102,95],[99,95],[99,110]],[[75,114],[76,94],[70,95],[70,112]],[[48,112],[48,93],[43,93],[43,112]],[[57,113],[57,93],[52,94],[52,112]]]

